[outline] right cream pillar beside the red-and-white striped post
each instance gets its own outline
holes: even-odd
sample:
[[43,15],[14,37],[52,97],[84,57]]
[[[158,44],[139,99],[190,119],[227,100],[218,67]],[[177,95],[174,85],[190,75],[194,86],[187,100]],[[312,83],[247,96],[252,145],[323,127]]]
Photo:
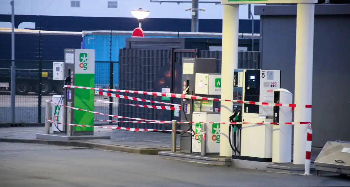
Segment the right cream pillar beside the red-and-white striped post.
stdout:
[[[294,122],[311,122],[315,4],[298,4],[296,13]],[[293,164],[305,164],[309,124],[294,126]]]

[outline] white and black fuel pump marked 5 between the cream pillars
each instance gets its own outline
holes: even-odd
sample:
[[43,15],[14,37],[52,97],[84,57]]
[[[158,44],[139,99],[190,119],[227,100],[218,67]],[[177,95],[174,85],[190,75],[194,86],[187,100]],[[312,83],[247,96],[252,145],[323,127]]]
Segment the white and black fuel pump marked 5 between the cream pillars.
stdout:
[[[235,100],[274,102],[274,90],[280,88],[279,70],[234,70]],[[273,106],[234,104],[232,122],[252,124],[234,125],[231,138],[232,158],[254,161],[272,161]],[[230,132],[232,134],[232,132]]]

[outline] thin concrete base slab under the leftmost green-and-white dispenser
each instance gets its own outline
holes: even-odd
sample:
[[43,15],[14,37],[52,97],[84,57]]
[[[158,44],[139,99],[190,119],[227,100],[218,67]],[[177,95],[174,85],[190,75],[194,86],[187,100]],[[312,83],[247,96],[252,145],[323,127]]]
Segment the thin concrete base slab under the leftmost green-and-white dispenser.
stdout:
[[69,141],[69,140],[111,139],[111,137],[110,136],[93,136],[93,135],[66,136],[64,134],[36,134],[36,139]]

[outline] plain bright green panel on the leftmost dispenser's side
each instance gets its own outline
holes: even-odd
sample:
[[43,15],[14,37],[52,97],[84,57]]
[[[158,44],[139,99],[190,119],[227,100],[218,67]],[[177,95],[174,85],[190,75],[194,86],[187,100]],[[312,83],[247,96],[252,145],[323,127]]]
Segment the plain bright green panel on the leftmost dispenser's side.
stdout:
[[[94,74],[75,74],[75,85],[94,87]],[[87,89],[75,89],[74,106],[79,109],[94,111],[94,91]],[[80,110],[74,111],[74,124],[93,126],[94,114]],[[93,131],[93,127],[74,127],[74,131]]]

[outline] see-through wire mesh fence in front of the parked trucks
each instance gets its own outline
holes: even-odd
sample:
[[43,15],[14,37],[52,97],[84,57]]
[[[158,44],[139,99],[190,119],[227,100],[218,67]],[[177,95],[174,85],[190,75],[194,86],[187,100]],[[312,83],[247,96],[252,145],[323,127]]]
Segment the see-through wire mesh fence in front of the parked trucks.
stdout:
[[[43,123],[45,120],[45,101],[51,99],[53,95],[63,94],[63,81],[52,80],[52,63],[54,61],[15,60],[16,96],[14,121],[12,120],[13,114],[11,113],[10,99],[10,90],[12,89],[10,87],[11,62],[11,60],[0,60],[0,124]],[[112,78],[110,76],[113,75],[111,72],[113,72],[113,67],[118,66],[118,62],[96,61],[95,66],[99,69],[98,73],[95,74],[95,87],[118,88],[118,83],[113,84],[113,76]],[[41,83],[41,90],[38,89],[39,83]],[[96,99],[118,103],[117,98],[96,96]],[[114,114],[118,113],[118,105],[95,103],[95,110]],[[95,116],[95,118],[105,119],[105,117],[100,115]]]

